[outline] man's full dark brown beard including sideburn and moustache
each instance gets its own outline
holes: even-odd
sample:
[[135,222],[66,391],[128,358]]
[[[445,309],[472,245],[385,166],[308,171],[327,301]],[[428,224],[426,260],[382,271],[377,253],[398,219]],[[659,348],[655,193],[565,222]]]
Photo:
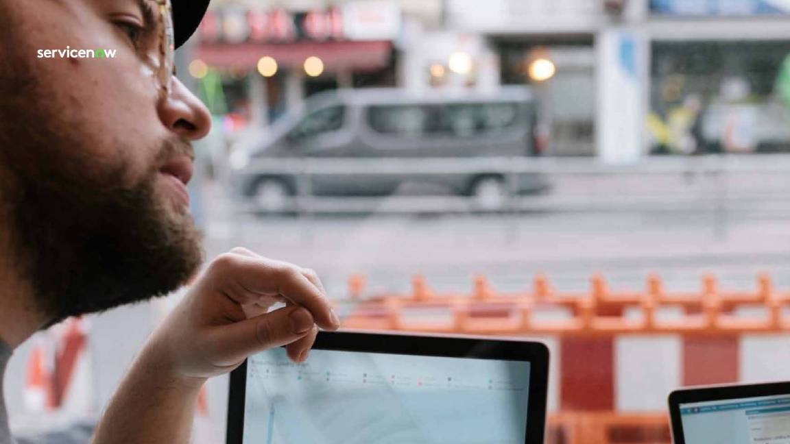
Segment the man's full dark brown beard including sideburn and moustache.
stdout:
[[169,208],[155,185],[159,165],[191,155],[190,146],[174,139],[148,147],[157,158],[130,179],[122,155],[145,148],[116,138],[121,159],[108,165],[86,146],[97,131],[90,123],[63,122],[33,77],[2,77],[0,239],[9,245],[0,254],[49,325],[185,284],[203,261],[201,235],[189,210]]

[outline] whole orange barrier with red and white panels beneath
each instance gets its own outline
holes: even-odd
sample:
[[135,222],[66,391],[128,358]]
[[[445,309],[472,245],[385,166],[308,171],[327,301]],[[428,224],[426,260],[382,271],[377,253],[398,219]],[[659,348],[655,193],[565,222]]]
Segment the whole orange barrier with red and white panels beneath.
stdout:
[[355,276],[348,294],[335,302],[351,306],[341,310],[344,328],[544,341],[548,407],[552,427],[566,436],[561,442],[608,442],[584,436],[628,427],[649,429],[647,442],[668,442],[672,389],[790,378],[790,292],[777,291],[767,275],[751,292],[722,291],[705,276],[699,292],[683,293],[668,292],[659,277],[644,292],[612,292],[596,276],[589,292],[572,294],[553,291],[540,276],[526,292],[495,292],[476,277],[468,294],[439,294],[417,276],[408,295],[367,294],[365,278]]

